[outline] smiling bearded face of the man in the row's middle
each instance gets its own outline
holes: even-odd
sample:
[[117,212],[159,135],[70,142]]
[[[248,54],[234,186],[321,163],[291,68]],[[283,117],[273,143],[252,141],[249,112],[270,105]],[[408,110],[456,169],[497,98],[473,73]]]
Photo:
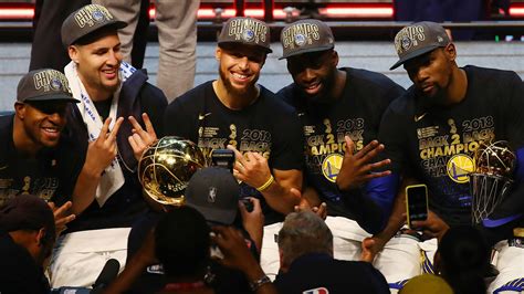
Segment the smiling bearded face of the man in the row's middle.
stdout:
[[233,96],[254,91],[265,55],[263,50],[242,44],[217,48],[220,80],[226,90]]

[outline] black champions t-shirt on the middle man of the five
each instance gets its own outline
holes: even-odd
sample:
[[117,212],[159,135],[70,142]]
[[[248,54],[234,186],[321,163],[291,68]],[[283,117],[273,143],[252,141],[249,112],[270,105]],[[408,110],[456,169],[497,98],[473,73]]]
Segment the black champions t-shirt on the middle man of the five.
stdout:
[[[253,104],[232,111],[217,97],[211,81],[201,84],[168,106],[165,133],[197,143],[208,160],[211,150],[233,145],[242,154],[260,153],[272,169],[302,169],[303,138],[296,113],[265,87],[260,90]],[[282,220],[254,188],[242,185],[241,196],[262,199],[266,223]]]

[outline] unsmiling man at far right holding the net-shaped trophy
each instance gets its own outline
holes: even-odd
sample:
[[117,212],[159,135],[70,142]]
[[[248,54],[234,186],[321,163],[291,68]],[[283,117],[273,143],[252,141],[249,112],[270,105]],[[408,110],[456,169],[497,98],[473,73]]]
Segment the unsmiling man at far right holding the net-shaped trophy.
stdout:
[[505,242],[513,228],[523,224],[524,84],[514,72],[459,67],[457,48],[438,23],[404,28],[395,48],[399,61],[391,69],[404,65],[413,85],[391,103],[380,125],[379,139],[387,146],[382,155],[392,164],[385,197],[395,197],[401,175],[417,175],[428,186],[430,213],[415,227],[440,238],[449,227],[471,224],[475,150],[481,144],[506,140],[516,155],[511,190],[479,223],[499,251],[494,264],[501,274],[490,285],[492,293],[524,276],[524,249]]

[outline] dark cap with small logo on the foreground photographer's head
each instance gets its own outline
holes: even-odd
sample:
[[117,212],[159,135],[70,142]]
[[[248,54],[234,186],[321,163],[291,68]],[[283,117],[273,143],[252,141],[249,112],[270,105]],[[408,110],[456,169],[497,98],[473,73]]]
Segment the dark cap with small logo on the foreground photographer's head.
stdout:
[[226,168],[207,167],[192,175],[186,188],[186,204],[197,209],[206,220],[232,224],[237,218],[240,186]]

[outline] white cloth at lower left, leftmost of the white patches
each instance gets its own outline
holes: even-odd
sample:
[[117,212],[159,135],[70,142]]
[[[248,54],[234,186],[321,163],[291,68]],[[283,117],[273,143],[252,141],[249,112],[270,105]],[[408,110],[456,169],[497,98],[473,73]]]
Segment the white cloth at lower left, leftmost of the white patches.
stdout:
[[50,264],[52,287],[91,287],[109,259],[124,270],[130,228],[69,233],[59,239]]

